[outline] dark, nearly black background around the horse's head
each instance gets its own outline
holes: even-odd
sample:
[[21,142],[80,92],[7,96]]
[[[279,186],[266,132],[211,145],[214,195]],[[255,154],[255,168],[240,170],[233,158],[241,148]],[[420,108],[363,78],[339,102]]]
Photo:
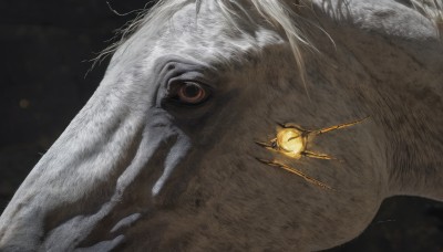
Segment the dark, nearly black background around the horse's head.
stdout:
[[[111,2],[120,13],[145,3]],[[107,61],[85,76],[89,60],[135,13],[117,15],[104,0],[0,0],[0,10],[1,212],[99,85]],[[331,251],[442,252],[443,203],[389,199],[362,235]]]

